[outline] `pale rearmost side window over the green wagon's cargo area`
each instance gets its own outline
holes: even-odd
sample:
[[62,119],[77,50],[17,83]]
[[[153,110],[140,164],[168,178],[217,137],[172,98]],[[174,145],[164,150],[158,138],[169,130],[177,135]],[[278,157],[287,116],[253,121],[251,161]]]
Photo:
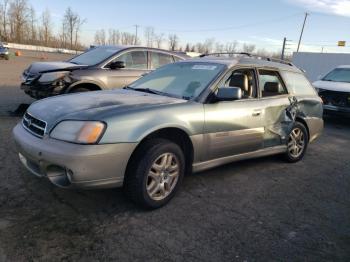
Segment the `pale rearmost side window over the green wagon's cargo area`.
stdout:
[[303,74],[283,71],[281,72],[287,88],[294,95],[316,95],[316,91]]

